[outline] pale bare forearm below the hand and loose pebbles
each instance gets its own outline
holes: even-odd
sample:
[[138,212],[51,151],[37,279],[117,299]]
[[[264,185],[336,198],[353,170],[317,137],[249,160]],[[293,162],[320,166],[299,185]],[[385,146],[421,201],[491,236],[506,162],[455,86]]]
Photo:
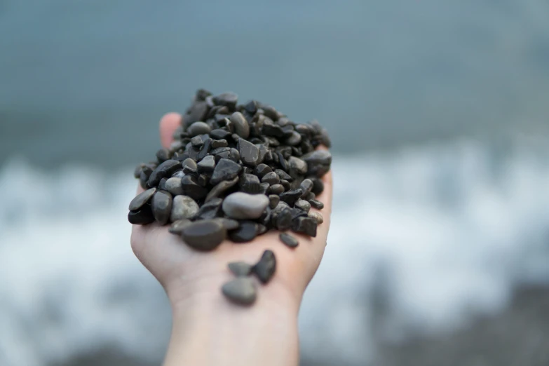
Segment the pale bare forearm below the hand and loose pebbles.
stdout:
[[172,297],[172,337],[164,366],[298,365],[299,300],[272,285],[259,289],[250,307],[229,303],[219,287]]

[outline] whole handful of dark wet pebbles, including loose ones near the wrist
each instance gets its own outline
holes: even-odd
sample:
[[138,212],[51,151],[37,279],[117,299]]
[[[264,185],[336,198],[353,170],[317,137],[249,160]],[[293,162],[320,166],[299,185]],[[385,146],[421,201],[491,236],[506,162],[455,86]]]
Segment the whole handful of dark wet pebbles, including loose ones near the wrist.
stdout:
[[[299,242],[287,231],[316,236],[323,217],[311,208],[324,207],[316,196],[332,163],[329,151],[316,149],[330,147],[317,121],[294,123],[269,104],[238,104],[234,93],[199,89],[173,137],[170,149],[135,168],[145,191],[130,202],[131,224],[171,224],[170,233],[201,251],[225,239],[249,242],[271,229],[290,248]],[[235,262],[229,269],[237,278],[223,294],[252,304],[256,291],[248,276],[268,283],[276,259],[266,250],[255,266]]]

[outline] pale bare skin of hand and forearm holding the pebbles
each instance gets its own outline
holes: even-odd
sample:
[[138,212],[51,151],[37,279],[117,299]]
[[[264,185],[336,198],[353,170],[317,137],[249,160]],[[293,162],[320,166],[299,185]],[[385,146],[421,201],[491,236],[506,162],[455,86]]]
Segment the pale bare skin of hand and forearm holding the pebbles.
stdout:
[[[170,146],[180,121],[175,113],[161,119],[163,147]],[[323,257],[330,227],[331,172],[323,181],[325,190],[317,199],[325,205],[320,211],[324,223],[318,226],[316,238],[292,233],[299,240],[294,249],[272,231],[251,243],[226,241],[212,252],[198,252],[169,233],[168,226],[133,226],[133,252],[164,287],[172,306],[164,366],[298,365],[297,314]],[[227,264],[254,264],[266,249],[276,255],[275,276],[267,285],[256,280],[257,301],[252,306],[231,304],[220,290],[234,278]]]

